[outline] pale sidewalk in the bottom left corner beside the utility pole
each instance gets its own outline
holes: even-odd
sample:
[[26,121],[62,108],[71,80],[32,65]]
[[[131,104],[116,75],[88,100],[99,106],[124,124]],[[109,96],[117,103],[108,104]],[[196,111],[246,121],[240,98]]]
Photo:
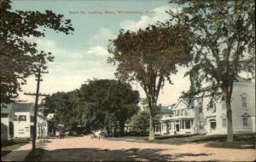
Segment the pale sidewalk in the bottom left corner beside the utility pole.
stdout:
[[1,161],[25,161],[26,155],[32,150],[32,142],[15,149],[11,153],[3,156]]

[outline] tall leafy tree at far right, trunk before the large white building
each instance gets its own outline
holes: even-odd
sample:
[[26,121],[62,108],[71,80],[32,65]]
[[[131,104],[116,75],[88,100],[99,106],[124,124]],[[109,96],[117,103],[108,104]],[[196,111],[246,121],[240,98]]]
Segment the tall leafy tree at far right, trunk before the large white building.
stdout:
[[[254,78],[255,3],[253,1],[173,0],[182,8],[171,21],[194,33],[193,67],[187,72],[191,88],[187,95],[222,97],[227,107],[227,141],[233,141],[230,100],[233,83],[242,72]],[[203,85],[203,83],[207,83]]]

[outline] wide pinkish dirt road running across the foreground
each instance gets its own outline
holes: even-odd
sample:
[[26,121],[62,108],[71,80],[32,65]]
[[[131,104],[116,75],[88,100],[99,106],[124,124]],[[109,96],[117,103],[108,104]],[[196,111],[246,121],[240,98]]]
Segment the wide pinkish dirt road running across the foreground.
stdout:
[[91,140],[90,136],[53,139],[42,161],[253,161],[255,149],[206,148],[204,144],[168,145]]

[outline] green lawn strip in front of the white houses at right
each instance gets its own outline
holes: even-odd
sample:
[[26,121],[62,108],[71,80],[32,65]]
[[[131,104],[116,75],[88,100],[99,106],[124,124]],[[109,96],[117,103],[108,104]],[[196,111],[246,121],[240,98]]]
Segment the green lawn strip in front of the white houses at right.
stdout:
[[[226,142],[226,135],[211,135],[211,136],[199,136],[199,135],[179,135],[179,136],[155,136],[155,143],[166,144],[184,144],[184,143],[202,143],[206,142],[207,147],[212,148],[255,148],[256,134],[237,134],[234,136],[234,142]],[[148,141],[148,136],[123,136],[113,138],[113,140],[127,140],[134,142],[151,142]]]

